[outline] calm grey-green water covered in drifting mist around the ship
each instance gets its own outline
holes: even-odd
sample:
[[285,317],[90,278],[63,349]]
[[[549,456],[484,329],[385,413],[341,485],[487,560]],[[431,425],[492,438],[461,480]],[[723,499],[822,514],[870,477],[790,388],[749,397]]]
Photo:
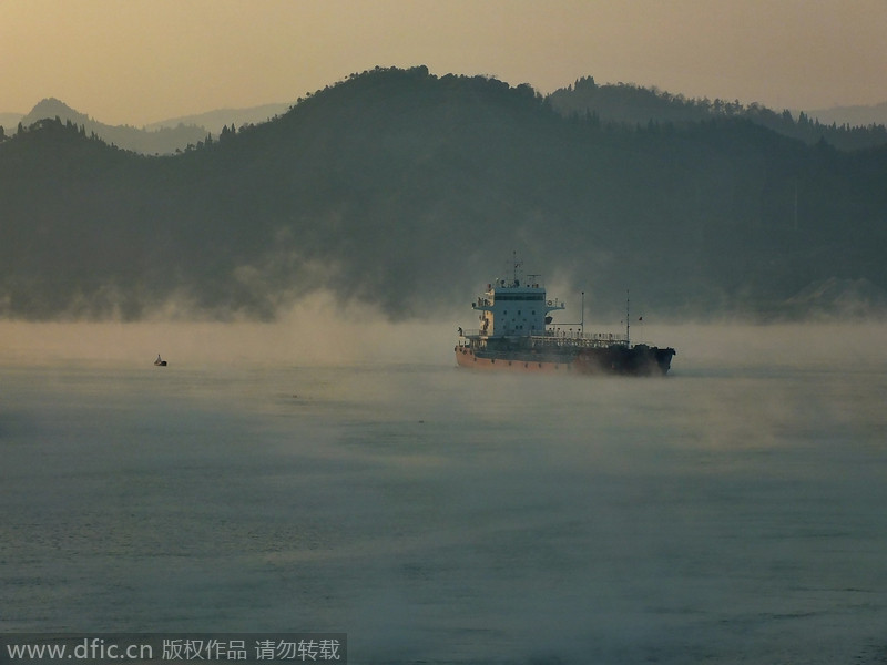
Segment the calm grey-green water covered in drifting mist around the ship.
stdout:
[[885,326],[639,331],[665,379],[475,374],[449,326],[184,328],[6,326],[0,631],[887,659]]

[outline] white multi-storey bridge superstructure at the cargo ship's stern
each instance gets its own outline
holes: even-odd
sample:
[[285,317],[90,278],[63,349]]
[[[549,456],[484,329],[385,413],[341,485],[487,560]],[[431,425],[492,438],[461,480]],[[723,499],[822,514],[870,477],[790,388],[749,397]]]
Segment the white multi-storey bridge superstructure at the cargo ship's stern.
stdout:
[[546,298],[546,289],[538,283],[521,284],[497,279],[487,285],[471,308],[479,311],[481,337],[536,337],[546,334],[551,323],[549,313],[564,309],[558,299]]

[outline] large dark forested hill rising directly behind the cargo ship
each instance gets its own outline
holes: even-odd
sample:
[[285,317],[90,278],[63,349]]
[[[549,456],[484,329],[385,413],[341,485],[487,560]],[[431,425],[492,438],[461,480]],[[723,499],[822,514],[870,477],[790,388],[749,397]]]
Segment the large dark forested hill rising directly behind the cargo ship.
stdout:
[[4,141],[0,309],[272,318],[329,288],[470,317],[517,252],[601,317],[626,288],[648,316],[856,314],[884,306],[886,176],[885,149],[741,117],[623,127],[527,85],[377,69],[175,156],[55,121]]

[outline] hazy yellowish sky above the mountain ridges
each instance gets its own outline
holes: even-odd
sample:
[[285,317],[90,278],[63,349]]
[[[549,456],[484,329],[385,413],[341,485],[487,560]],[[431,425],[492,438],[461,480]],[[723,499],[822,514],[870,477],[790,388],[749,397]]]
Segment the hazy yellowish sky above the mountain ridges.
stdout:
[[887,101],[887,0],[0,0],[0,112],[141,126],[376,65],[777,110]]

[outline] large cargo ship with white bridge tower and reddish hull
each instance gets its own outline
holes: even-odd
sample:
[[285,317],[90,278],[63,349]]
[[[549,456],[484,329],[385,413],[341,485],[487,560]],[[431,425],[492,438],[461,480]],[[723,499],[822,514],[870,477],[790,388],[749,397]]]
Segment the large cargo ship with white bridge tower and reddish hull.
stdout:
[[[517,266],[517,264],[516,264]],[[497,279],[487,285],[471,308],[479,313],[480,328],[458,329],[456,362],[459,367],[518,372],[664,376],[676,351],[631,344],[629,305],[625,332],[585,332],[584,294],[578,324],[553,324],[553,311],[565,305],[549,299],[530,275]]]

